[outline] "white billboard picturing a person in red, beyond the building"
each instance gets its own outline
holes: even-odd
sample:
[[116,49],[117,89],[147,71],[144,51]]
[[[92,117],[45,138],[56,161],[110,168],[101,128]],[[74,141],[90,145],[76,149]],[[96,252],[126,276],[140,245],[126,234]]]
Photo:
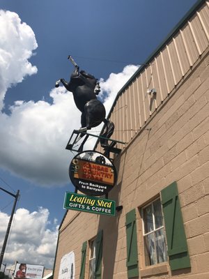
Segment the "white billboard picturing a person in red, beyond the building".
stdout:
[[16,264],[14,278],[41,279],[44,266],[36,264]]

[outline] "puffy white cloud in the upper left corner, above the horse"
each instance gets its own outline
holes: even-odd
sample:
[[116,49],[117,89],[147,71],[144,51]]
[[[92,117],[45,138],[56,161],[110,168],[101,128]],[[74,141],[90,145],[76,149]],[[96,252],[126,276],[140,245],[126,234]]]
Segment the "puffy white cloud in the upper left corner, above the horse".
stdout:
[[21,22],[17,13],[0,10],[0,110],[6,90],[22,82],[26,75],[37,73],[28,59],[38,44],[33,30]]

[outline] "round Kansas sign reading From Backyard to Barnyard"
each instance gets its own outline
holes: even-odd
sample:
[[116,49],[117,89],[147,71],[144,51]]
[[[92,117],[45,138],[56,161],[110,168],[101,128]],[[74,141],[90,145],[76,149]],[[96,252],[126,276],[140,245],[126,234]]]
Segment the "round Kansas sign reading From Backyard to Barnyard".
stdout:
[[107,194],[117,180],[116,168],[107,157],[96,151],[75,156],[69,167],[72,184],[86,195]]

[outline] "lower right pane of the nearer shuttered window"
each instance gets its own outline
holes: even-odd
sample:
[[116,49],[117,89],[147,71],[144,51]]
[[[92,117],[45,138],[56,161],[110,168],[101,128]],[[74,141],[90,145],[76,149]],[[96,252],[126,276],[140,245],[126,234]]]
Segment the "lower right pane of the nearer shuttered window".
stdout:
[[166,262],[167,261],[167,247],[164,238],[163,229],[157,230],[155,232],[155,241],[156,241],[156,250],[157,250],[157,262]]

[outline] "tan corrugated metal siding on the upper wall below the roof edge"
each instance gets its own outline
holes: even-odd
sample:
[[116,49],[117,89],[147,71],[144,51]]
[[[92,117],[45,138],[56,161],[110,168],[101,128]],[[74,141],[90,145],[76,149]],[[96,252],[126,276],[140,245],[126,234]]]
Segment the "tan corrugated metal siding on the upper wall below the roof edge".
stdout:
[[[156,54],[149,66],[141,70],[121,92],[109,118],[116,126],[111,138],[130,142],[208,44],[209,1],[206,1]],[[157,91],[156,96],[148,94],[148,89],[153,88]],[[122,144],[118,147],[123,149]]]

